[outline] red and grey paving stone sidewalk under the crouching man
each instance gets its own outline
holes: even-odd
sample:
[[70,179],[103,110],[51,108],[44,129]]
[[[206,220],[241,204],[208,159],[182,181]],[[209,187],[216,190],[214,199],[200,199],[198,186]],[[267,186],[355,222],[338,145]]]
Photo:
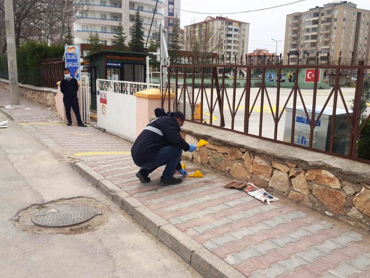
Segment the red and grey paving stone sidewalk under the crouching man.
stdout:
[[[8,103],[8,92],[0,89],[0,106]],[[148,210],[163,227],[175,227],[172,234],[184,236],[173,240],[194,240],[208,250],[190,254],[191,264],[204,276],[370,277],[366,231],[289,200],[265,205],[242,191],[223,188],[230,180],[209,169],[201,169],[204,178],[187,177],[167,187],[158,184],[159,169],[143,184],[135,177],[130,142],[93,127],[68,127],[55,112],[23,98],[20,108],[1,110],[64,157],[82,161],[89,175],[100,177],[99,183],[113,184],[105,193],[128,197],[130,209]],[[198,169],[185,163],[188,172]]]

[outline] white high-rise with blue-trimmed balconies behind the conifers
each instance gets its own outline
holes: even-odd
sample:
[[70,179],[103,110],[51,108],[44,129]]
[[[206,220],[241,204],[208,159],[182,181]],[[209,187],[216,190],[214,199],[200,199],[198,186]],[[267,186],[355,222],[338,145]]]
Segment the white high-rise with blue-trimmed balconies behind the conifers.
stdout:
[[[111,45],[113,35],[117,33],[119,22],[124,28],[127,42],[130,40],[132,25],[136,11],[140,12],[144,28],[144,39],[153,36],[155,28],[159,25],[173,26],[175,11],[180,9],[180,0],[158,0],[154,14],[153,25],[150,30],[151,20],[157,0],[90,0],[86,1],[89,11],[81,15],[73,24],[74,43],[87,43],[88,33],[97,32],[103,45]],[[166,21],[165,21],[166,16]],[[172,25],[170,25],[170,20]]]

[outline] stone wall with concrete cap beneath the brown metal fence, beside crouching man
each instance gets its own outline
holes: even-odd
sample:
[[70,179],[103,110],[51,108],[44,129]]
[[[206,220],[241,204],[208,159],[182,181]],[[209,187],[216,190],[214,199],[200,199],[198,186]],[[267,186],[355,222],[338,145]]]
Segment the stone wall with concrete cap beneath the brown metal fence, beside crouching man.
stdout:
[[[214,129],[212,136],[204,136],[201,134],[203,127],[197,126],[196,132],[194,132],[196,129],[184,131],[185,140],[189,144],[195,145],[199,139],[207,140],[209,143],[193,153],[183,152],[184,159],[208,165],[229,176],[230,181],[235,179],[252,182],[256,186],[265,188],[268,192],[279,196],[283,195],[296,203],[370,230],[370,180],[368,179],[370,165],[359,163],[362,164],[362,169],[368,169],[363,175],[359,175],[358,172],[351,173],[346,169],[347,166],[344,163],[342,163],[343,168],[340,169],[328,165],[329,163],[325,159],[316,163],[294,157],[287,159],[286,155],[279,155],[277,150],[272,153],[263,149],[263,146],[261,149],[254,147],[258,145],[256,140],[260,141],[260,145],[267,141],[252,138],[257,144],[248,146],[248,144],[243,144],[241,140],[243,137],[249,139],[250,137],[229,132],[232,134],[231,136],[238,136],[241,140],[230,140],[230,143],[227,144],[225,143],[227,135],[224,135],[227,131]],[[205,134],[210,133],[205,131]],[[218,140],[217,137],[222,140]],[[275,145],[276,149],[297,149],[273,142],[267,143]],[[307,150],[298,150],[295,151],[300,153],[297,154],[299,156],[302,152],[318,154]],[[335,160],[341,159],[324,154],[318,155]],[[310,160],[308,154],[301,157],[307,157]],[[353,167],[358,163],[348,162]],[[363,170],[359,169],[359,171]]]

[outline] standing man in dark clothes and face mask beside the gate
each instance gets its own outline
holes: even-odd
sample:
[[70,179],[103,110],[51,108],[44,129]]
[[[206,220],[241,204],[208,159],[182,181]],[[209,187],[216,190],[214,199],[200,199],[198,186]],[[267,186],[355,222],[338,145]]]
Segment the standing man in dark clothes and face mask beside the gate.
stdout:
[[76,115],[77,126],[86,127],[82,123],[81,115],[79,114],[79,105],[78,105],[78,82],[75,78],[70,77],[69,70],[64,68],[63,70],[64,79],[60,81],[60,92],[63,93],[63,103],[65,108],[65,116],[67,117],[67,126],[72,125],[72,118],[70,116],[70,108],[72,107],[74,115]]

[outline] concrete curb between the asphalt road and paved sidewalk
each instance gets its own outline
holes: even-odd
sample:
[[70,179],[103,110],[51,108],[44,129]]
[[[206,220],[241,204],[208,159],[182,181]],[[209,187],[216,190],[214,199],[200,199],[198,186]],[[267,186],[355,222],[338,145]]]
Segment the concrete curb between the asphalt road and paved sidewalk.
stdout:
[[235,268],[156,215],[141,202],[106,180],[83,162],[75,162],[72,164],[72,167],[89,183],[132,216],[138,224],[189,263],[202,276],[207,278],[245,278]]

